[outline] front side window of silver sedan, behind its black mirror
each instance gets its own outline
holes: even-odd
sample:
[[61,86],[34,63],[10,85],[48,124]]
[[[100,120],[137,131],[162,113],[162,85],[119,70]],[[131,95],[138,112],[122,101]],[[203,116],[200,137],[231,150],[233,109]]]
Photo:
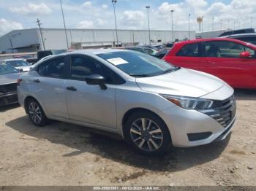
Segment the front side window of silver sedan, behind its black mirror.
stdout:
[[121,79],[114,71],[94,58],[73,56],[71,61],[72,79],[85,80],[87,76],[99,74],[105,77],[107,84],[118,85],[124,83],[124,79]]

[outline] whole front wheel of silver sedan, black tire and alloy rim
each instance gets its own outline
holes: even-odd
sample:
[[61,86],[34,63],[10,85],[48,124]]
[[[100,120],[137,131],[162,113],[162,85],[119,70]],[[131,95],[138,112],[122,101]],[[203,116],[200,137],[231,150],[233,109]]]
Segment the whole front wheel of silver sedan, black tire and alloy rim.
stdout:
[[165,122],[151,112],[132,114],[124,124],[124,139],[146,155],[164,154],[171,145]]

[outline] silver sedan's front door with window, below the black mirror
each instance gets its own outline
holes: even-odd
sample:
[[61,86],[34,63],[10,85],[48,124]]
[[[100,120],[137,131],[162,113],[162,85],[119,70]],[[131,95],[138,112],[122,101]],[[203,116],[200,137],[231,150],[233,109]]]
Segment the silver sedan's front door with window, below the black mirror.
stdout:
[[102,90],[99,85],[88,85],[85,81],[92,74],[106,74],[101,71],[101,63],[86,55],[72,55],[70,79],[65,84],[69,118],[92,125],[116,128],[116,88],[107,85]]

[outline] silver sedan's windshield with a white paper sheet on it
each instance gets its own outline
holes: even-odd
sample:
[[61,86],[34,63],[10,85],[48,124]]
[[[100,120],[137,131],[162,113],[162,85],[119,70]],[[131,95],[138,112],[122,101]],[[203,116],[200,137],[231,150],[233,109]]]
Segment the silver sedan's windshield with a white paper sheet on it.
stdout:
[[140,52],[118,51],[98,54],[130,76],[151,77],[174,71],[175,66]]

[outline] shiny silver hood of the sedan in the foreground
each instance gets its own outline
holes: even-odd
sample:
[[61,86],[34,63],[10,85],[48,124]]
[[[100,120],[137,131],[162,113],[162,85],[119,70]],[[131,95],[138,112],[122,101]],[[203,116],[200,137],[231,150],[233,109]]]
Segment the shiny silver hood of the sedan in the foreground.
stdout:
[[179,69],[156,77],[137,78],[140,89],[168,95],[200,97],[218,90],[225,82],[210,74],[190,69]]

